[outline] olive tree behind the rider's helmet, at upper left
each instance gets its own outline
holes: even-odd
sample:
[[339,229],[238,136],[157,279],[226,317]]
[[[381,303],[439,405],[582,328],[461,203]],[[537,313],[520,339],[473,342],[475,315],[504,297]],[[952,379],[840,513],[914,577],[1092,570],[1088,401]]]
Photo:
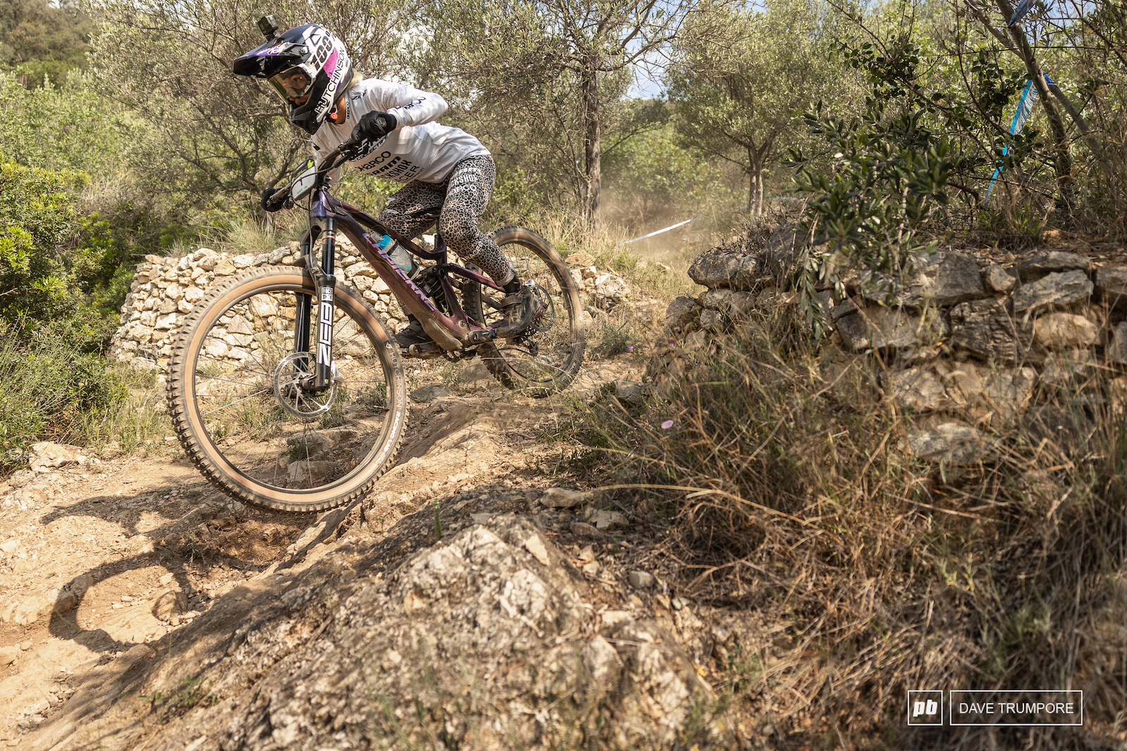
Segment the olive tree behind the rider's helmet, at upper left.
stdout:
[[410,2],[392,0],[91,0],[101,90],[158,132],[143,149],[154,189],[249,199],[305,150],[269,87],[231,73],[231,62],[263,42],[256,23],[266,12],[283,28],[323,24],[367,74],[396,71],[415,17]]

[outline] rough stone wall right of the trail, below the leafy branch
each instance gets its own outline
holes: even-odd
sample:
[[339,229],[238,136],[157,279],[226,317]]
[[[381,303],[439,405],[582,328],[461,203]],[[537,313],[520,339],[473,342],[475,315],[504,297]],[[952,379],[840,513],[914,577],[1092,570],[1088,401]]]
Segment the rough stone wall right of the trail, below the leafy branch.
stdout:
[[[798,301],[774,286],[762,252],[738,245],[701,253],[689,275],[707,289],[666,311],[681,346],[708,346],[752,311]],[[832,336],[822,359],[875,356],[885,397],[934,415],[930,432],[909,437],[917,454],[950,459],[968,441],[982,444],[980,429],[1021,415],[1038,387],[1127,395],[1127,267],[1059,251],[1001,263],[948,251],[923,259],[906,283],[846,275],[846,292],[823,293]]]

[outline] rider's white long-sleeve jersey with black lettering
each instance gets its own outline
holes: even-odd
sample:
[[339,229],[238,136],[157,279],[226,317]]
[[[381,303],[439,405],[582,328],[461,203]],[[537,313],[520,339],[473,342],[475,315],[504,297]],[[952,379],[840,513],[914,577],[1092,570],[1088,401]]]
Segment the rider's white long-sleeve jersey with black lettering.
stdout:
[[[458,162],[489,153],[465,131],[435,122],[446,111],[446,100],[436,93],[370,78],[349,89],[346,96],[345,122],[335,125],[326,120],[313,134],[318,163],[322,155],[352,137],[360,118],[373,110],[393,115],[397,127],[369,144],[363,154],[346,162],[365,175],[397,182],[442,182]],[[339,169],[334,170],[329,177],[336,181]]]

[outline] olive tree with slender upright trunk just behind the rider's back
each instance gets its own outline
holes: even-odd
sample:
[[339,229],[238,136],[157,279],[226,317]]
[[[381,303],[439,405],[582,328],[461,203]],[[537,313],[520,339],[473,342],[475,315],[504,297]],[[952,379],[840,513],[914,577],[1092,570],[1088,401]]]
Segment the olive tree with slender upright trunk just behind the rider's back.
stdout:
[[531,125],[600,221],[602,140],[637,66],[656,62],[695,0],[477,0],[436,9],[451,73],[477,111]]

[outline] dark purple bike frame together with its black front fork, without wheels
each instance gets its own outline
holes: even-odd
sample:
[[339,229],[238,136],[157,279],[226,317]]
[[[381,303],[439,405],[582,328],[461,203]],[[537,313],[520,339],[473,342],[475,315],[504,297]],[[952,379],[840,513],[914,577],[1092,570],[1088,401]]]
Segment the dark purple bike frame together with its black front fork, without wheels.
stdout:
[[[310,232],[302,247],[305,268],[313,277],[318,289],[320,305],[320,323],[317,332],[317,359],[313,373],[312,388],[322,391],[332,383],[332,324],[334,298],[337,277],[335,274],[335,250],[337,231],[345,234],[364,257],[372,269],[379,275],[391,294],[399,303],[423,324],[423,329],[444,351],[458,351],[467,346],[479,345],[492,340],[496,334],[485,325],[485,321],[474,321],[462,310],[450,274],[464,277],[471,281],[504,292],[496,281],[467,268],[451,263],[447,260],[446,243],[442,235],[435,236],[435,249],[432,251],[418,247],[411,239],[384,226],[379,220],[360,208],[329,195],[329,189],[320,185],[310,194],[309,223]],[[387,251],[376,244],[384,235],[400,243],[409,252],[436,261],[438,280],[442,292],[450,305],[450,315],[443,313],[427,295],[419,289],[407,274],[391,260]],[[320,248],[318,259],[314,248]],[[311,295],[298,294],[298,316],[294,322],[294,351],[310,351],[310,331],[312,299]],[[387,346],[391,346],[390,342]]]

